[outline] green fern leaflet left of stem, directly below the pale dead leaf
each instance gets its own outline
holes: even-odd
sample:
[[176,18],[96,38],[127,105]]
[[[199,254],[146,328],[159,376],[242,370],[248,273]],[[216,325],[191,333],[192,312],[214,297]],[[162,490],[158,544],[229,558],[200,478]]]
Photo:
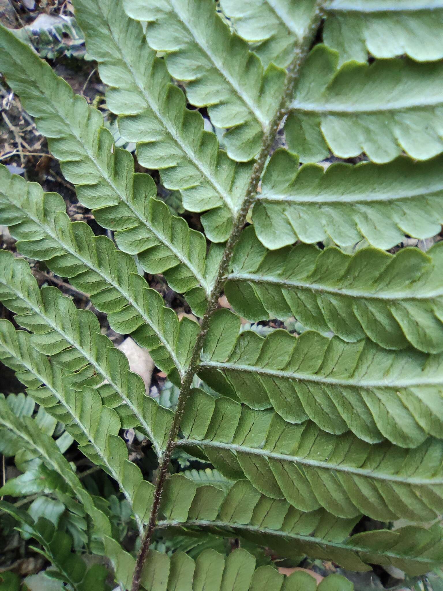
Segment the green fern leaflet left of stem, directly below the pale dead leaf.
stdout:
[[128,358],[102,335],[95,314],[77,310],[57,288],[40,290],[28,263],[8,251],[0,251],[0,300],[17,313],[20,326],[34,332],[32,347],[64,370],[79,372],[82,384],[96,387],[106,380],[111,387],[104,393],[106,404],[124,402],[135,418],[131,427],[139,424],[159,453],[172,413],[145,395],[142,378],[129,371]]

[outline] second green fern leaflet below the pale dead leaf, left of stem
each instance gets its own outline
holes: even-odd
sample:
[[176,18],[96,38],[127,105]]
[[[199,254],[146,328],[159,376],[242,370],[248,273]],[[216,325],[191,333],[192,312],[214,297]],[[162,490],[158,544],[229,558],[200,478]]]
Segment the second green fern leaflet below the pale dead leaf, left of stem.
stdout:
[[121,423],[116,411],[103,405],[91,387],[84,387],[80,397],[69,387],[69,375],[50,363],[32,346],[31,336],[23,330],[16,332],[8,320],[0,321],[0,359],[17,372],[31,397],[66,425],[80,450],[116,480],[141,529],[146,511],[149,513],[152,485],[143,479],[139,467],[129,462],[126,445],[118,437]]

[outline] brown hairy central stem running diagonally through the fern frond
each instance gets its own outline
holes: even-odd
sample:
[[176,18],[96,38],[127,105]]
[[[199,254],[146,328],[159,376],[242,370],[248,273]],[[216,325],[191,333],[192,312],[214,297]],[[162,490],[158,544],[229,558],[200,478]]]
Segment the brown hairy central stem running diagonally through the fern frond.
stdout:
[[266,160],[269,156],[269,151],[272,148],[273,141],[275,139],[278,128],[282,122],[282,119],[286,115],[291,103],[292,94],[294,92],[294,86],[297,82],[299,72],[305,57],[310,50],[312,40],[317,33],[318,26],[320,25],[321,17],[323,15],[324,0],[318,0],[315,6],[314,13],[312,15],[311,23],[305,31],[304,38],[302,39],[298,52],[292,60],[291,65],[288,68],[286,74],[284,92],[282,94],[278,109],[272,118],[271,124],[269,125],[268,131],[263,136],[262,147],[260,148],[257,160],[252,168],[252,174],[249,180],[249,184],[246,189],[245,199],[243,200],[242,207],[240,207],[239,213],[234,220],[234,226],[232,232],[227,239],[226,248],[224,249],[222,261],[220,262],[219,271],[217,272],[216,280],[214,281],[213,288],[209,295],[206,313],[204,314],[201,322],[201,330],[198,334],[196,344],[194,345],[193,353],[191,355],[191,361],[185,371],[183,378],[181,379],[180,396],[178,398],[177,410],[175,411],[174,420],[172,421],[171,430],[168,437],[167,446],[163,453],[158,468],[157,482],[155,483],[154,501],[152,503],[151,515],[149,522],[146,527],[141,549],[139,551],[135,569],[132,579],[131,591],[139,591],[142,569],[145,563],[146,554],[148,553],[149,545],[151,544],[152,534],[157,525],[158,511],[161,501],[161,495],[165,483],[165,479],[168,473],[168,466],[171,460],[171,454],[174,450],[175,439],[177,439],[178,430],[180,428],[181,417],[183,415],[184,404],[190,394],[191,386],[194,375],[196,375],[198,362],[200,360],[200,352],[203,348],[204,339],[209,328],[209,322],[214,311],[217,309],[220,293],[223,289],[224,281],[226,280],[227,274],[229,273],[230,262],[232,259],[234,247],[240,238],[243,226],[246,222],[247,212],[256,199],[257,188],[260,181],[260,177],[265,168]]

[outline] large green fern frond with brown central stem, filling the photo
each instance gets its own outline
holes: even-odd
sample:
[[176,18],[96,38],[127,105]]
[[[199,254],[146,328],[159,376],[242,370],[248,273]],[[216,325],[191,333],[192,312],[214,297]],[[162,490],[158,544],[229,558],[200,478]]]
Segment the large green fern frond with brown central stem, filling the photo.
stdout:
[[[443,563],[443,5],[73,4],[120,134],[159,177],[136,173],[102,113],[0,28],[5,82],[112,237],[0,165],[0,222],[18,252],[0,252],[14,314],[0,320],[0,359],[26,388],[0,399],[0,451],[23,473],[0,494],[43,479],[71,525],[20,502],[2,501],[3,515],[74,591],[107,588],[85,548],[122,591],[309,591],[309,574],[276,569],[304,557],[429,589]],[[149,350],[175,408],[27,259]],[[152,462],[134,460],[126,430]],[[67,459],[73,441],[119,498]],[[180,457],[212,468],[183,472]],[[318,589],[353,584],[335,573]]]

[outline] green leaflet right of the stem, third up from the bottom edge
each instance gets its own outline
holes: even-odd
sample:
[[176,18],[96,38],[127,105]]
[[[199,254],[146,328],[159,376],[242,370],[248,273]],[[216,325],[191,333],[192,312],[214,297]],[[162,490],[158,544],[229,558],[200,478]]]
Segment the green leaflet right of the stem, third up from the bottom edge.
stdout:
[[227,478],[247,478],[300,511],[323,507],[338,517],[363,513],[380,521],[431,521],[443,512],[441,440],[428,438],[413,450],[369,444],[203,391],[193,392],[181,424],[179,446],[191,453],[197,447]]

